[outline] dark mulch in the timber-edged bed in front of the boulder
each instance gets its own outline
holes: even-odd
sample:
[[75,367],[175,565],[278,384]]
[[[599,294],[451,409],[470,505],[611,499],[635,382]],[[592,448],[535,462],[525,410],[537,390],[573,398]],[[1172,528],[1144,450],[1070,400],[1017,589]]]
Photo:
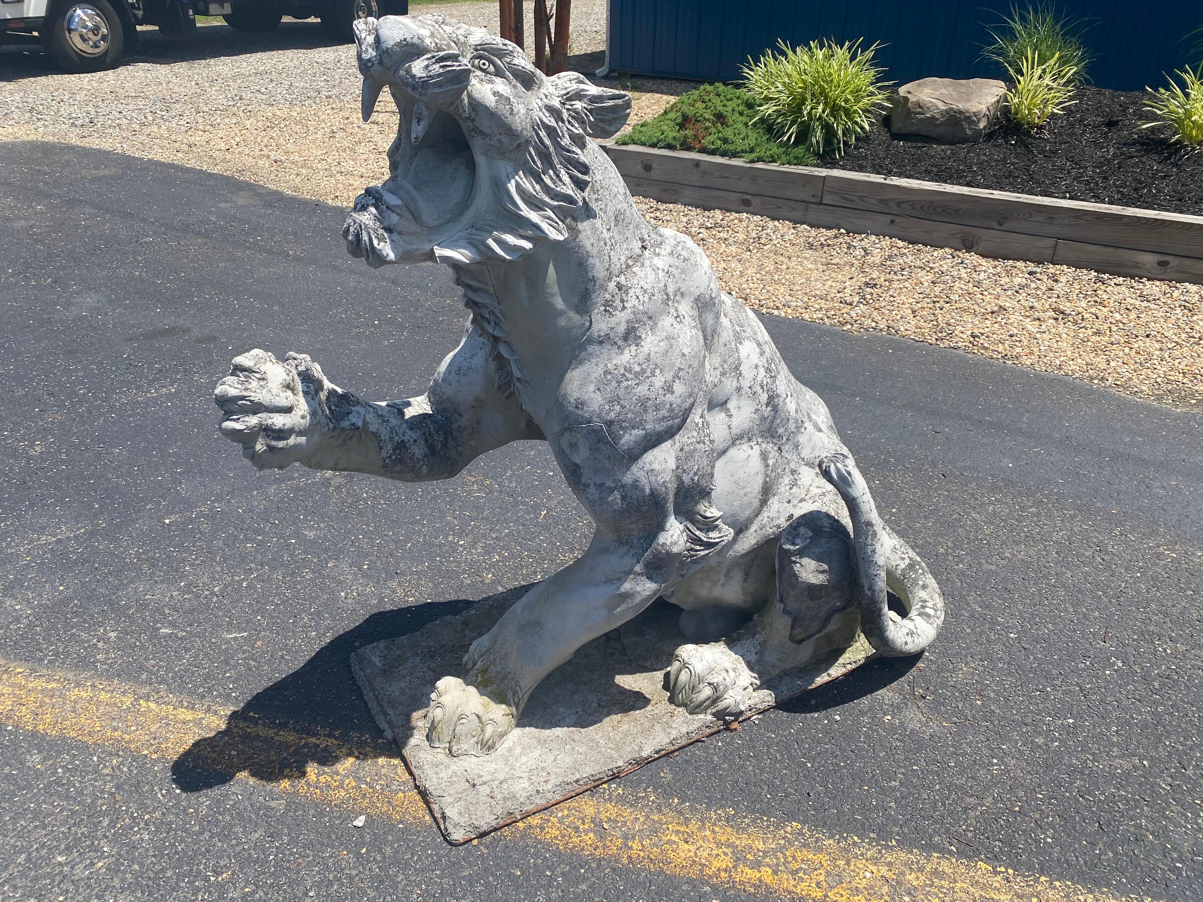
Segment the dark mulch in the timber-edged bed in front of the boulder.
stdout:
[[1160,129],[1139,129],[1149,119],[1144,99],[1079,88],[1078,102],[1054,117],[1047,133],[1029,138],[1002,126],[979,144],[893,137],[883,120],[819,166],[1203,215],[1203,153],[1185,154]]

